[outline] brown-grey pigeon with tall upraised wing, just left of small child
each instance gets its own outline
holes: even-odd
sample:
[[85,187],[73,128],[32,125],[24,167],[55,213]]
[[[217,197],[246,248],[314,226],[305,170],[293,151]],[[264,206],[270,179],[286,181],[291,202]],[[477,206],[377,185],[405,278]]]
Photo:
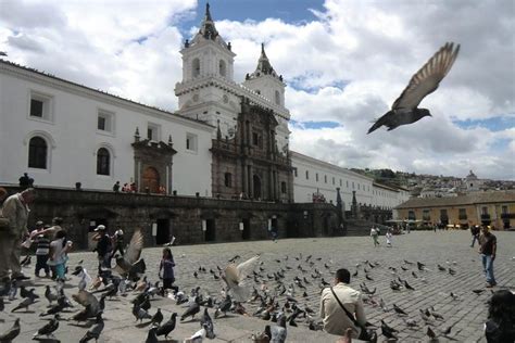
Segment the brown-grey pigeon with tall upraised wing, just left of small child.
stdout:
[[116,257],[114,270],[122,277],[129,276],[130,278],[136,278],[138,275],[145,274],[145,270],[147,270],[145,259],[139,259],[142,249],[143,234],[141,233],[141,229],[137,229],[130,239],[130,243],[124,256]]

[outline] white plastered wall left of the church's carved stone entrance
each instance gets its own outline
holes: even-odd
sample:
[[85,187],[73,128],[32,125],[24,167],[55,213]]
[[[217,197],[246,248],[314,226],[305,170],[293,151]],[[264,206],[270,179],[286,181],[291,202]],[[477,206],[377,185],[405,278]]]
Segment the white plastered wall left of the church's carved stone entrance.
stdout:
[[[51,123],[29,117],[30,91],[52,98]],[[112,135],[97,130],[99,110],[114,113]],[[164,142],[172,135],[177,151],[173,190],[211,195],[212,127],[0,62],[0,182],[17,183],[24,172],[38,186],[74,187],[80,181],[87,189],[109,190],[116,180],[129,182],[135,172],[130,145],[135,129],[139,127],[146,138],[148,123],[161,126]],[[198,137],[197,153],[186,151],[187,132]],[[46,170],[28,168],[28,140],[34,135],[52,143]],[[112,153],[110,176],[96,173],[100,147]]]

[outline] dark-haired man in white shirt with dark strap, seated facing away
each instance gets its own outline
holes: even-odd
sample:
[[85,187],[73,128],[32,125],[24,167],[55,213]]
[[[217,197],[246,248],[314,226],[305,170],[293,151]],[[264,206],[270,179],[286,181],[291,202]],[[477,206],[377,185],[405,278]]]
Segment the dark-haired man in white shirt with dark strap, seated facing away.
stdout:
[[352,338],[375,342],[374,336],[365,329],[366,315],[361,292],[349,287],[351,274],[348,269],[338,269],[334,287],[322,291],[321,317],[324,331],[330,334],[344,335],[352,329]]

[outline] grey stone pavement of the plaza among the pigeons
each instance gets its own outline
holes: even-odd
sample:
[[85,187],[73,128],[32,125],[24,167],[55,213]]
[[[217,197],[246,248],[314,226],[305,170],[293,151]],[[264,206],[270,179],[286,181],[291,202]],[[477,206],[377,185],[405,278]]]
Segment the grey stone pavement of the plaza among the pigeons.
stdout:
[[[499,285],[495,289],[507,288],[515,289],[515,232],[494,232],[498,237],[498,258],[494,263],[494,272]],[[400,333],[400,342],[426,342],[425,335],[427,326],[419,317],[419,309],[434,306],[435,310],[443,316],[443,320],[432,320],[432,329],[437,333],[452,326],[449,335],[454,342],[485,342],[482,338],[482,326],[487,316],[486,302],[491,293],[486,290],[482,294],[476,295],[472,292],[475,289],[485,289],[485,277],[480,265],[480,256],[476,247],[472,249],[470,234],[467,231],[426,231],[413,232],[410,234],[395,236],[393,238],[393,247],[386,247],[384,237],[380,237],[381,245],[374,247],[372,239],[368,237],[352,238],[316,238],[316,239],[288,239],[279,240],[274,243],[272,241],[256,242],[239,242],[239,243],[221,243],[221,244],[202,244],[202,245],[178,245],[173,246],[176,262],[176,284],[185,292],[196,285],[201,287],[202,293],[209,293],[213,296],[221,297],[222,282],[214,280],[209,272],[210,269],[217,270],[216,266],[225,267],[227,261],[235,255],[240,255],[244,261],[252,257],[256,253],[261,253],[264,271],[263,279],[269,289],[274,289],[276,282],[268,280],[266,275],[272,275],[284,268],[286,278],[285,283],[288,285],[293,282],[293,278],[304,277],[310,281],[306,284],[307,296],[303,297],[304,290],[296,288],[296,297],[299,300],[300,306],[318,310],[318,301],[321,292],[321,279],[313,279],[314,269],[316,268],[323,275],[323,278],[331,282],[332,272],[339,267],[347,267],[354,272],[355,265],[359,275],[352,278],[351,285],[359,289],[359,284],[366,282],[366,285],[373,290],[377,288],[374,300],[384,298],[388,307],[394,303],[409,313],[406,318],[415,319],[418,327],[410,329],[404,323],[404,318],[394,312],[384,312],[379,306],[365,305],[367,319],[369,322],[380,327],[380,319],[384,319],[389,326],[397,328]],[[180,242],[177,242],[180,244]],[[148,276],[151,281],[158,280],[158,264],[162,249],[146,249],[142,257],[147,262]],[[300,255],[302,254],[302,257]],[[313,257],[311,261],[315,263],[310,266],[305,259],[309,255]],[[70,256],[70,268],[76,265],[79,259],[84,259],[84,266],[90,270],[96,270],[97,261],[91,252],[73,253]],[[299,259],[297,259],[297,258]],[[287,259],[288,258],[288,259]],[[416,265],[407,265],[403,261],[422,262],[426,264],[428,270],[418,271]],[[278,262],[276,262],[278,261]],[[366,267],[367,280],[364,274],[364,261],[378,263],[375,268]],[[437,267],[440,264],[444,268],[453,268],[456,275],[452,276],[447,271],[440,271]],[[302,272],[299,265],[306,270]],[[327,267],[325,266],[327,265]],[[198,278],[193,277],[193,270],[199,266],[206,268],[208,272],[199,274]],[[403,270],[401,266],[407,270]],[[25,269],[27,275],[32,275],[32,268]],[[388,267],[397,268],[397,274]],[[256,269],[258,270],[258,269]],[[412,276],[415,271],[418,278]],[[414,291],[402,289],[401,291],[392,291],[389,283],[392,279],[401,277],[415,289]],[[37,279],[29,284],[42,285],[49,283],[46,279]],[[65,292],[71,295],[76,292],[75,284],[77,279],[73,277],[67,282]],[[457,295],[457,300],[453,300],[450,293]],[[42,287],[37,288],[37,293],[42,295]],[[106,302],[104,317],[105,329],[99,342],[145,342],[148,327],[136,325],[130,313],[129,300],[120,298]],[[279,301],[284,304],[284,297]],[[28,342],[38,328],[42,326],[42,321],[38,317],[48,302],[42,297],[38,304],[32,308],[32,313],[25,314],[23,310],[11,314],[11,308],[17,304],[18,300],[12,304],[5,305],[5,310],[0,313],[0,332],[11,327],[14,318],[22,318],[22,334],[15,342]],[[75,310],[78,310],[77,305]],[[165,319],[169,317],[172,312],[180,314],[184,307],[177,306],[172,300],[158,298],[152,301],[150,313],[162,308]],[[246,304],[249,313],[255,308],[255,304]],[[213,317],[213,310],[210,310]],[[64,314],[62,317],[67,318],[72,314]],[[3,322],[2,322],[3,321]],[[288,327],[288,342],[335,342],[336,336],[326,334],[321,331],[310,331],[303,320],[298,321],[299,327]],[[213,342],[250,342],[252,332],[262,331],[265,321],[256,318],[250,318],[239,315],[229,315],[227,318],[218,318],[214,320],[215,333],[217,338]],[[171,338],[181,341],[199,329],[199,322],[187,321],[178,322],[176,330]],[[61,321],[60,329],[55,338],[61,342],[78,342],[87,331],[87,327],[77,327],[67,321]],[[380,333],[380,330],[378,331]],[[379,334],[379,341],[385,336]],[[206,340],[209,341],[209,340]],[[450,342],[451,340],[440,335],[440,342]],[[163,340],[164,342],[164,340]],[[169,341],[174,342],[174,341]]]

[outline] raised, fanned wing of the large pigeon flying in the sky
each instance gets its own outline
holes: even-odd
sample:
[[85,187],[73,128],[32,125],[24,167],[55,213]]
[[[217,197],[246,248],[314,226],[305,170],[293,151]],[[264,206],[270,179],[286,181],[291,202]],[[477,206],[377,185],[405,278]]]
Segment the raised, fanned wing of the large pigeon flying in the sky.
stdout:
[[445,77],[457,58],[460,45],[453,50],[454,43],[447,42],[438,50],[424,66],[412,76],[410,84],[393,102],[392,110],[413,110],[420,101],[434,92]]

